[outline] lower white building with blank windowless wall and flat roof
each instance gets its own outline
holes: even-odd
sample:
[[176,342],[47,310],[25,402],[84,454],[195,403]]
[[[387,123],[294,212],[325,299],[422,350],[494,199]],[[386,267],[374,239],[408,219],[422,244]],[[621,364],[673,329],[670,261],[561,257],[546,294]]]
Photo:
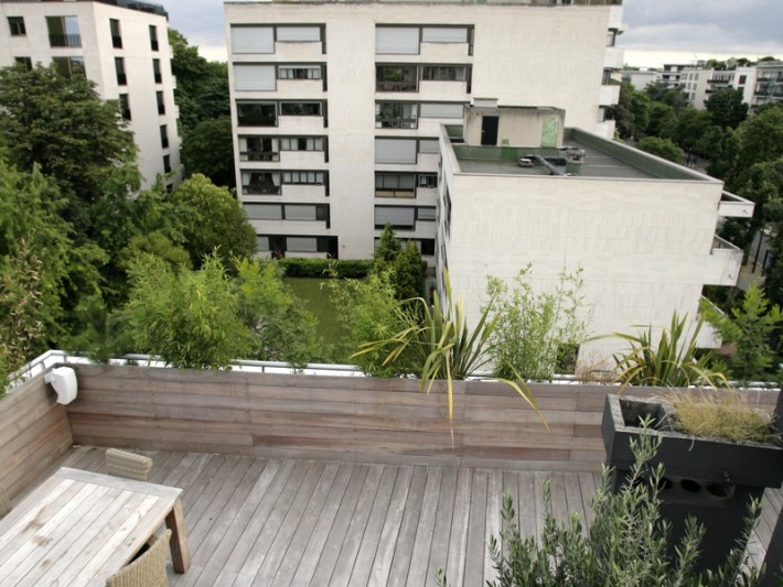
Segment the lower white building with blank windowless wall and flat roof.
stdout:
[[[487,119],[500,144],[481,145]],[[593,336],[655,336],[673,312],[697,319],[704,285],[734,285],[742,251],[716,236],[721,217],[749,218],[753,204],[722,182],[579,129],[556,108],[466,109],[442,127],[436,275],[449,270],[469,323],[486,300],[486,276],[512,280],[528,263],[532,285],[554,292],[558,274],[582,268]],[[442,284],[439,283],[442,292]],[[717,345],[705,327],[700,345]],[[624,347],[591,340],[594,365]]]

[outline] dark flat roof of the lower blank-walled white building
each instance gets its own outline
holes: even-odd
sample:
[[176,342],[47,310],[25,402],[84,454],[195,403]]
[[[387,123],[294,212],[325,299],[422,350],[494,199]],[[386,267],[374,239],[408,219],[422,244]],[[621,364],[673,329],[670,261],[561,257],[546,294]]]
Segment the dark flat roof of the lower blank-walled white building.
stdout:
[[[561,175],[567,171],[580,177],[630,178],[630,180],[689,180],[719,182],[683,165],[651,155],[624,143],[601,139],[579,129],[566,129],[561,149],[526,146],[476,146],[455,142],[455,127],[448,129],[452,149],[460,171],[489,175],[557,175],[536,157],[541,156]],[[567,148],[583,151],[578,169],[567,170]],[[533,166],[521,166],[519,157],[533,155]]]

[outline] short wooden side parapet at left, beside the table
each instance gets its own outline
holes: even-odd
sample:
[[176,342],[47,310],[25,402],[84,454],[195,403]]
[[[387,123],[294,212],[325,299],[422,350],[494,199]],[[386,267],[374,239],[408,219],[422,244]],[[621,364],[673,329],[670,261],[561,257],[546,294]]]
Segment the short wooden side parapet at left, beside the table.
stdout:
[[0,486],[25,489],[73,445],[64,406],[43,374],[0,399]]

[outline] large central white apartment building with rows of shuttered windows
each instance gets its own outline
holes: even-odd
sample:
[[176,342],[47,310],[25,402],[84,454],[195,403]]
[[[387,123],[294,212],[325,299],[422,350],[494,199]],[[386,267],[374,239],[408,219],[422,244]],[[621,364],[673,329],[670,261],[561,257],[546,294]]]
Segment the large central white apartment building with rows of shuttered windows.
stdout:
[[570,4],[227,2],[237,192],[259,250],[367,258],[389,222],[433,261],[440,127],[475,97],[612,137],[622,7]]

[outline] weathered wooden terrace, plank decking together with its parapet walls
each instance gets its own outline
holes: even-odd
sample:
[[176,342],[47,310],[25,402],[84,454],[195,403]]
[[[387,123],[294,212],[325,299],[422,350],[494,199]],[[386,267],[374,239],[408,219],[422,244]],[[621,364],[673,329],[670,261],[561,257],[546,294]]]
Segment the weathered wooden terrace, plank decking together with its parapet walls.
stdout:
[[[556,514],[589,524],[616,389],[532,385],[545,430],[505,385],[457,382],[452,443],[444,394],[414,380],[69,366],[73,403],[55,403],[43,373],[1,400],[0,483],[17,501],[61,466],[105,472],[105,447],[143,452],[150,481],[184,489],[192,565],[178,575],[169,562],[174,587],[428,585],[439,567],[451,585],[483,585],[504,490],[527,535],[541,531],[547,478]],[[766,491],[755,565],[782,497]]]

